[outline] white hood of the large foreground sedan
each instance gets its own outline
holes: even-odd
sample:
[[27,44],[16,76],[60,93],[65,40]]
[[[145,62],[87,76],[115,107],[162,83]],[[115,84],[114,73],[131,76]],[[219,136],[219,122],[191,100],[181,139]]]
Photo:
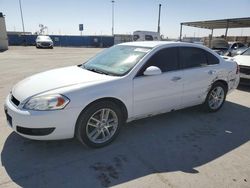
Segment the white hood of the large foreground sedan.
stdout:
[[19,101],[76,84],[89,84],[91,82],[111,80],[116,77],[98,74],[78,66],[71,66],[42,72],[18,82],[12,88],[12,94]]

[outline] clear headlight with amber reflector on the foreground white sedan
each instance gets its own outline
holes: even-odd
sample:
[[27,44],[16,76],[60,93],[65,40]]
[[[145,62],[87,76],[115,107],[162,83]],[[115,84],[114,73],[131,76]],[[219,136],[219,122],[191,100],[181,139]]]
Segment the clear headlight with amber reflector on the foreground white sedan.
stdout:
[[27,110],[60,110],[69,103],[69,99],[60,94],[32,97],[23,108]]

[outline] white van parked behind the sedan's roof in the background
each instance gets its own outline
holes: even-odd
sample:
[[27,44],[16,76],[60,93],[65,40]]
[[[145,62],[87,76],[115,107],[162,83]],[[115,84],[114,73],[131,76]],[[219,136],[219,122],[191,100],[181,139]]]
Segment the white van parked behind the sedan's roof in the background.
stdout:
[[161,40],[158,32],[154,31],[135,31],[133,33],[133,41],[152,41]]

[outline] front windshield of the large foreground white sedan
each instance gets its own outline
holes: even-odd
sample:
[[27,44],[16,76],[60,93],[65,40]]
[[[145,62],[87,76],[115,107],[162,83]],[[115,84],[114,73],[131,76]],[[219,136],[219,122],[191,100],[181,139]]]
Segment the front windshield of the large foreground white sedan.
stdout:
[[104,50],[83,64],[83,68],[108,75],[127,74],[151,48],[116,45]]

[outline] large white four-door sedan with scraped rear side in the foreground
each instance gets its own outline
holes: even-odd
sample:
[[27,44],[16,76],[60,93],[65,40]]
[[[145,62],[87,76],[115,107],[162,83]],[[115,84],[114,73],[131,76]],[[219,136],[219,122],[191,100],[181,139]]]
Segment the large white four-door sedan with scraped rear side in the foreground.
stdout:
[[54,69],[17,83],[5,102],[8,124],[23,137],[77,137],[109,144],[123,123],[203,104],[219,110],[238,86],[237,63],[181,42],[131,42],[82,65]]

